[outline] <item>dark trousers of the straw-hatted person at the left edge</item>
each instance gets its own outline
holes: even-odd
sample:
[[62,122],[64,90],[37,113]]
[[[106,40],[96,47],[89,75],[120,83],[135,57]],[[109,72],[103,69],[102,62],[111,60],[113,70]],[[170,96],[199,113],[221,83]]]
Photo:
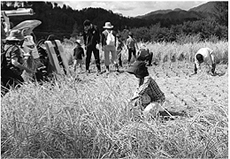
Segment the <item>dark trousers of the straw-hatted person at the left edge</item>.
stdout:
[[24,82],[21,75],[18,75],[10,69],[1,73],[1,96],[5,95],[11,87],[20,87],[20,85]]

